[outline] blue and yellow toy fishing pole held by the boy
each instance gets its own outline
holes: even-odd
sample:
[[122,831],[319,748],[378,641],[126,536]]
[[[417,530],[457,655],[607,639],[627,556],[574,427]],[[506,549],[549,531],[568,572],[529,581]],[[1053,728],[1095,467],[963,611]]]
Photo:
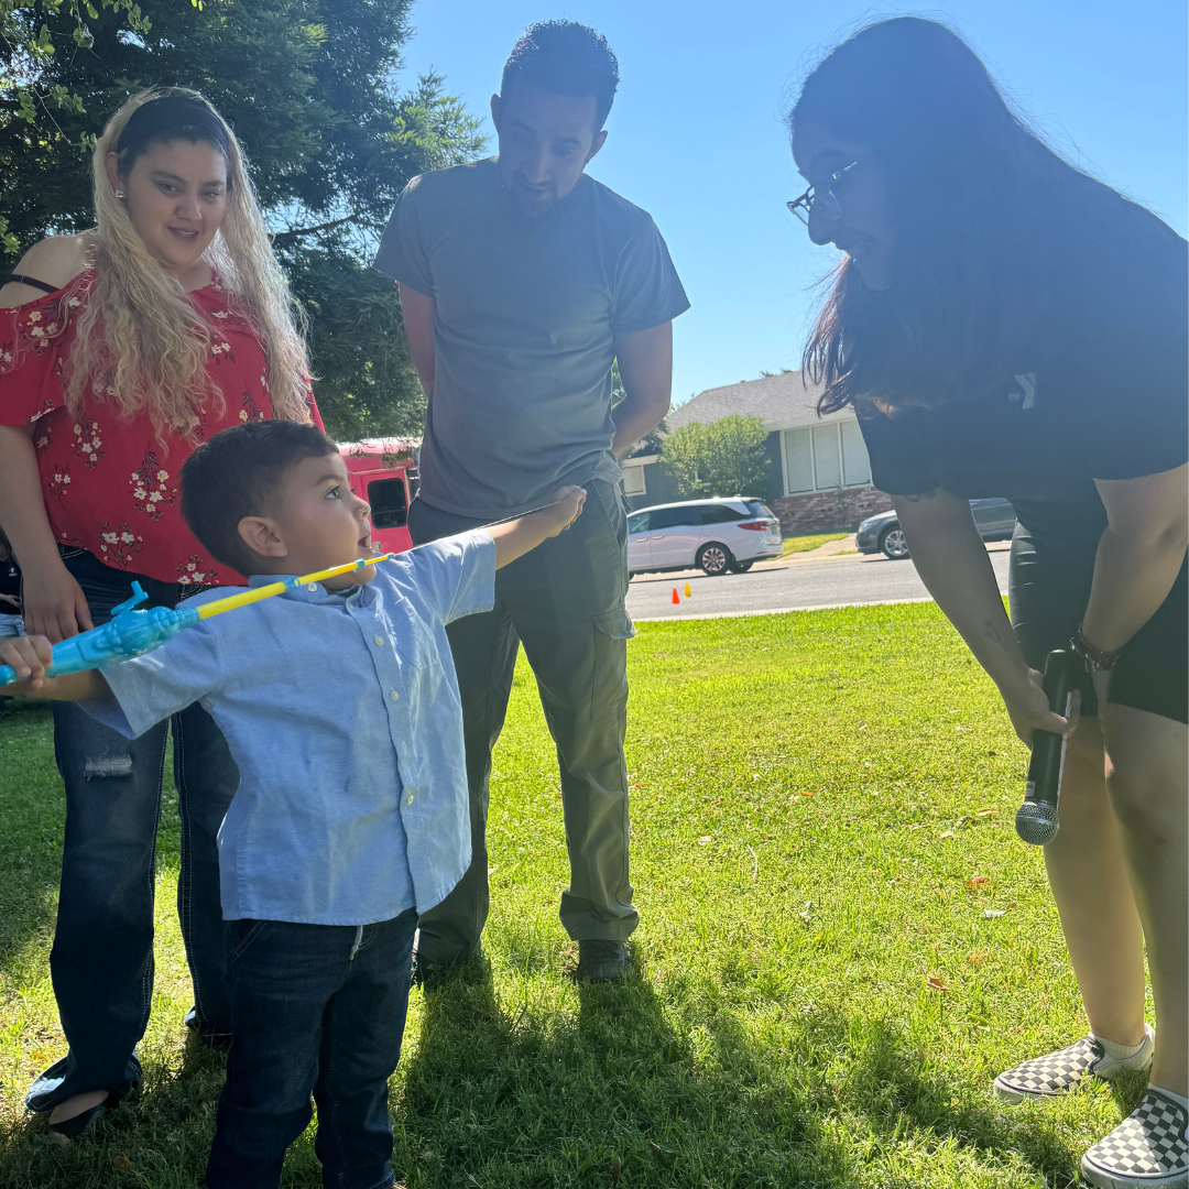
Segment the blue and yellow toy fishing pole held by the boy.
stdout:
[[[520,520],[521,516],[531,516],[535,512],[545,511],[551,504],[542,504],[527,512],[516,516],[505,516],[503,520],[492,521],[490,524],[477,526],[479,528],[495,528],[497,524],[507,524],[509,521]],[[426,545],[434,542],[427,541]],[[63,673],[80,673],[83,669],[101,668],[113,661],[131,660],[133,656],[143,656],[145,653],[159,648],[166,640],[172,640],[183,628],[193,628],[203,619],[212,616],[222,615],[224,611],[234,611],[237,608],[247,606],[250,603],[259,603],[260,599],[272,598],[288,590],[296,590],[312,583],[320,583],[336,574],[346,574],[353,570],[363,570],[365,566],[375,566],[379,561],[388,561],[390,558],[404,556],[416,549],[424,548],[423,545],[405,549],[404,554],[379,553],[373,558],[360,558],[358,561],[346,561],[341,566],[331,566],[329,570],[319,570],[314,574],[302,574],[300,578],[283,578],[268,586],[256,586],[252,590],[241,591],[239,594],[228,594],[226,598],[214,599],[203,603],[201,606],[153,606],[144,611],[137,610],[137,604],[143,603],[147,594],[140,587],[140,583],[132,584],[132,597],[125,599],[112,609],[112,618],[107,623],[82,631],[77,636],[63,640],[54,646],[54,655],[50,667],[45,671],[46,677],[61,677]],[[17,671],[11,665],[0,665],[0,685],[8,685],[17,680]]]

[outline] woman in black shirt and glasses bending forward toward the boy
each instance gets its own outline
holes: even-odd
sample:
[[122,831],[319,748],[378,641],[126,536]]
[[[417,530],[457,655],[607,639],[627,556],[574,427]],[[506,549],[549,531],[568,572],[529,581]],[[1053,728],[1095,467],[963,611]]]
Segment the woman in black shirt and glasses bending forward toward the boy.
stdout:
[[[917,571],[1019,737],[1069,734],[1045,864],[1093,1031],[995,1088],[1018,1102],[1151,1062],[1082,1171],[1184,1187],[1185,241],[1055,153],[933,21],[838,45],[789,128],[811,188],[788,206],[845,253],[806,348],[822,410],[855,407]],[[987,496],[1019,517],[1011,621],[968,504]],[[1067,722],[1038,671],[1071,640],[1088,675]]]

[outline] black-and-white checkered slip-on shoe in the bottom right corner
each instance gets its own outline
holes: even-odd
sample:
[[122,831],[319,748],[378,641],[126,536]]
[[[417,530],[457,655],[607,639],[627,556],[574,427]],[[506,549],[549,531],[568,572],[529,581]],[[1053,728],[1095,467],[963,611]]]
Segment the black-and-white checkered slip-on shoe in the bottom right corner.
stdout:
[[1189,1112],[1149,1089],[1139,1106],[1082,1157],[1082,1176],[1099,1189],[1187,1189]]

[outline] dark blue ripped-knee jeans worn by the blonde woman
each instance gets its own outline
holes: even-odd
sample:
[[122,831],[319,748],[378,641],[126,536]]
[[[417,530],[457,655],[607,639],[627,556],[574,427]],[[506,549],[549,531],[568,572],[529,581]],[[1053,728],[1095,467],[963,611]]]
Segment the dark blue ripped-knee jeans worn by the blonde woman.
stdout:
[[[63,561],[82,586],[95,624],[131,594],[174,606],[194,587],[102,565],[83,551]],[[177,885],[185,956],[194,980],[187,1023],[210,1043],[231,1031],[224,981],[222,911],[215,836],[239,784],[235,762],[201,706],[175,715],[174,780],[182,824]],[[54,704],[54,749],[65,782],[67,824],[58,919],[50,954],[54,994],[70,1052],[25,1100],[49,1111],[88,1090],[117,1094],[140,1080],[133,1050],[152,1004],[153,888],[162,774],[170,724],[128,741],[71,703]]]

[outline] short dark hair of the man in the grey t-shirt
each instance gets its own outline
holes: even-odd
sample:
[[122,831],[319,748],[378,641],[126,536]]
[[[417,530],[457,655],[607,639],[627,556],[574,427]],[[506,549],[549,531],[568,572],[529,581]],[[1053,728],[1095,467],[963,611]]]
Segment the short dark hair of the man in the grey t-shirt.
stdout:
[[619,59],[606,38],[577,20],[542,20],[529,25],[512,46],[499,81],[499,97],[508,97],[516,81],[531,83],[551,95],[593,95],[594,131],[606,122],[619,86]]

